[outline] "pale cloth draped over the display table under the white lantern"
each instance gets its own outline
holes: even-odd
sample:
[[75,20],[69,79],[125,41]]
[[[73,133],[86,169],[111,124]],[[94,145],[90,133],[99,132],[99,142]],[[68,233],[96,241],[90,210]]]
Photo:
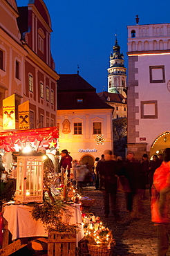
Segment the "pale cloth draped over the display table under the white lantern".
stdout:
[[[79,232],[76,236],[78,244],[78,241],[84,237],[84,229],[79,204],[74,204],[73,206],[67,206],[67,214],[64,212],[62,219],[69,224],[79,223]],[[5,205],[3,218],[8,221],[8,230],[12,234],[12,241],[23,237],[48,237],[48,232],[41,221],[33,219],[31,212],[32,207],[28,205]]]

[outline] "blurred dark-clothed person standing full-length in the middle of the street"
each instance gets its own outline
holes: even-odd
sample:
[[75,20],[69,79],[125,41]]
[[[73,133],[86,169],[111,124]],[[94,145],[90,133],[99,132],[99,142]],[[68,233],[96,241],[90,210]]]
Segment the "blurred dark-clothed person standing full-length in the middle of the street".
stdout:
[[103,199],[104,199],[104,217],[108,218],[110,213],[109,197],[111,198],[111,205],[113,215],[116,217],[115,202],[117,193],[117,163],[113,160],[113,154],[111,150],[104,150],[104,159],[98,165],[98,172],[104,182]]

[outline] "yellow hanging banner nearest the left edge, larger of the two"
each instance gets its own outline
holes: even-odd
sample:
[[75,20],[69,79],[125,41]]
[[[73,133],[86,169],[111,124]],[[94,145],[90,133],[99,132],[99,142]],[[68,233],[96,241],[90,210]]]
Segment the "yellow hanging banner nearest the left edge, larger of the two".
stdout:
[[3,130],[15,129],[15,94],[3,100]]

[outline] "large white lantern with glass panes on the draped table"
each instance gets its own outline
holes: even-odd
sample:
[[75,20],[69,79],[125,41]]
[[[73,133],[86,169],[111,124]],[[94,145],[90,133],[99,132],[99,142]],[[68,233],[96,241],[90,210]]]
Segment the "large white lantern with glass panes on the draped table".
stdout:
[[15,201],[43,201],[44,161],[42,156],[17,157],[17,188]]

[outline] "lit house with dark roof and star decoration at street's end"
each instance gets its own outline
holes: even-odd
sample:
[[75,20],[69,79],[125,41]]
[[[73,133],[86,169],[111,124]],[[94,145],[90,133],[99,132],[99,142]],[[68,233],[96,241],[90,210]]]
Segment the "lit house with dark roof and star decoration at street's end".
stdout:
[[113,107],[103,102],[80,75],[60,75],[57,81],[59,152],[93,166],[105,149],[113,151]]

